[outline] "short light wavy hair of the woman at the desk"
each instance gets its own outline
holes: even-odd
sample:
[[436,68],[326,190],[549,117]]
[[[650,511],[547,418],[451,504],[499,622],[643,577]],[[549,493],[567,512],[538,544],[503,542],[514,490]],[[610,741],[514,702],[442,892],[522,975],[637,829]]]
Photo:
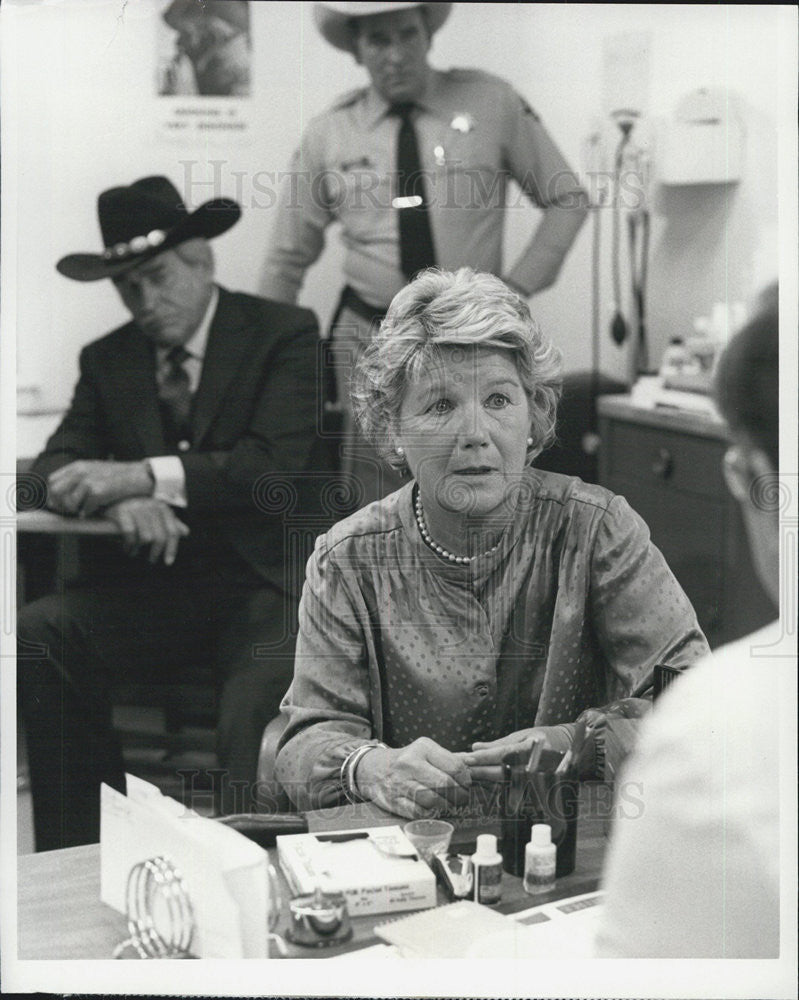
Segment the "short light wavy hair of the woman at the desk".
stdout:
[[468,267],[429,268],[394,296],[353,374],[353,412],[364,437],[389,465],[405,468],[392,448],[391,429],[409,382],[441,362],[443,347],[512,353],[530,404],[532,462],[555,438],[560,351],[544,338],[521,296],[493,274]]

